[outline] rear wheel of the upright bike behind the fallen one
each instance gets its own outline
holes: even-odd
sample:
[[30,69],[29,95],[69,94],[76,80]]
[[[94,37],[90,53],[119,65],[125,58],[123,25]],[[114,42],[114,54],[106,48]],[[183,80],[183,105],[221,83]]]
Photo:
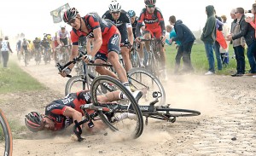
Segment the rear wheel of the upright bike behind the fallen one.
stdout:
[[[144,76],[143,76],[144,75]],[[164,106],[166,105],[166,91],[163,87],[163,85],[160,83],[159,78],[155,77],[154,74],[152,74],[151,72],[148,72],[148,70],[141,68],[141,67],[137,67],[137,68],[132,68],[128,74],[127,74],[130,86],[135,87],[137,90],[141,90],[141,87],[143,86],[147,86],[148,87],[148,97],[152,96],[154,91],[160,91],[161,93],[161,97],[159,98],[159,105],[160,106]],[[134,79],[137,79],[137,81],[135,81]],[[148,82],[146,82],[148,80]],[[154,84],[156,84],[156,86],[154,86]],[[150,84],[150,86],[149,86]],[[149,89],[150,87],[150,89]],[[152,90],[151,90],[152,89]],[[150,98],[149,98],[150,99]],[[153,99],[151,100],[147,100],[147,101],[153,101]]]

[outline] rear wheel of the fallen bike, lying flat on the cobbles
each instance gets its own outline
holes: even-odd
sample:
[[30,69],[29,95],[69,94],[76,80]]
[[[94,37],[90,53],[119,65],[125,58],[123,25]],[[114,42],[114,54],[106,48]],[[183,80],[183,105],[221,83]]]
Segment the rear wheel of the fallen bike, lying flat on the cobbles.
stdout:
[[170,114],[172,117],[192,117],[201,114],[199,111],[191,109],[169,108],[169,107],[156,107],[157,112],[165,112],[164,114]]

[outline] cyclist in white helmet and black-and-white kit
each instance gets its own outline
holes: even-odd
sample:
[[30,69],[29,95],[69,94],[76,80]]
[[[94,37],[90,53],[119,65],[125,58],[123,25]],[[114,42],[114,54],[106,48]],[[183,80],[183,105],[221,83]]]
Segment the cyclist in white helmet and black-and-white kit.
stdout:
[[[116,0],[113,0],[108,11],[102,15],[103,19],[111,20],[114,26],[117,26],[121,34],[121,55],[125,62],[125,70],[128,72],[131,69],[130,48],[133,44],[133,34],[131,20],[129,15],[121,9],[121,5]],[[128,32],[128,33],[127,33]]]

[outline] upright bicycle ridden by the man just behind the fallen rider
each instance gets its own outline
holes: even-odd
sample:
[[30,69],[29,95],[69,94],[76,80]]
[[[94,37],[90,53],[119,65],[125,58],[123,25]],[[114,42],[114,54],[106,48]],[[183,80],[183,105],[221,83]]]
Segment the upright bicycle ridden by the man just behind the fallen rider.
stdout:
[[[79,49],[80,55],[73,59],[73,61],[67,62],[66,65],[61,66],[59,63],[56,64],[56,67],[61,72],[64,70],[67,66],[69,66],[72,63],[76,63],[78,61],[81,61],[81,57],[84,54],[84,51]],[[72,92],[76,92],[79,90],[85,90],[90,89],[90,84],[94,78],[96,78],[96,74],[92,71],[90,71],[90,68],[88,66],[108,66],[113,67],[110,64],[95,64],[93,61],[86,64],[84,61],[83,63],[83,74],[79,76],[71,76],[69,75],[69,79],[67,81],[66,87],[65,87],[65,94],[69,94]],[[132,90],[143,90],[143,100],[144,101],[152,101],[152,93],[154,91],[160,91],[162,93],[162,96],[160,97],[160,105],[166,104],[166,93],[164,90],[164,87],[160,83],[160,80],[156,78],[152,73],[148,72],[148,70],[137,67],[132,68],[127,73],[127,78],[129,81],[129,84],[131,86]]]

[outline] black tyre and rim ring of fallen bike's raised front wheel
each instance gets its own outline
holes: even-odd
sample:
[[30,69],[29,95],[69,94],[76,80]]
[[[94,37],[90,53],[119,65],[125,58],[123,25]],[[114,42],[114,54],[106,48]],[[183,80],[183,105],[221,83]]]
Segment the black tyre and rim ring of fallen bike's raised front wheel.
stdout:
[[[136,139],[137,137],[141,136],[143,133],[143,113],[141,112],[137,101],[134,99],[134,97],[131,95],[131,92],[125,88],[123,84],[121,84],[117,79],[102,75],[96,77],[92,84],[91,84],[91,90],[90,90],[90,95],[91,95],[91,101],[95,106],[98,106],[98,101],[97,101],[97,95],[98,95],[98,87],[102,86],[102,84],[107,83],[107,84],[113,84],[115,87],[117,87],[120,91],[122,91],[128,98],[128,100],[131,102],[131,107],[133,109],[134,114],[137,116],[136,123],[137,125],[135,126],[135,130],[131,132],[131,137]],[[106,125],[108,125],[108,128],[113,131],[122,131],[119,130],[115,126],[115,124],[111,123],[108,118],[102,113],[102,111],[97,111],[99,114],[100,118],[102,119],[102,122]],[[126,127],[127,128],[127,127]]]

